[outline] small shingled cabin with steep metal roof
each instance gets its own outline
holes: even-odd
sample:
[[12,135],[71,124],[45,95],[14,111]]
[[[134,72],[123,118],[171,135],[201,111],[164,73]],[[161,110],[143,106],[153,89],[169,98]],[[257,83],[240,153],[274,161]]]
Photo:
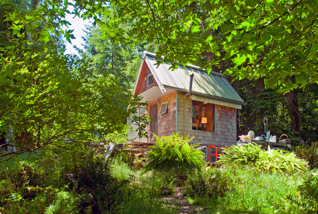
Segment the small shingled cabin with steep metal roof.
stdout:
[[[138,137],[136,124],[130,123],[128,138],[135,142],[153,143],[155,137],[179,132],[194,137],[206,155],[210,145],[230,146],[237,142],[237,109],[244,105],[225,76],[195,65],[157,63],[156,55],[144,52],[133,93],[142,96],[137,114],[151,116],[146,132],[148,138]],[[209,152],[208,152],[209,153]]]

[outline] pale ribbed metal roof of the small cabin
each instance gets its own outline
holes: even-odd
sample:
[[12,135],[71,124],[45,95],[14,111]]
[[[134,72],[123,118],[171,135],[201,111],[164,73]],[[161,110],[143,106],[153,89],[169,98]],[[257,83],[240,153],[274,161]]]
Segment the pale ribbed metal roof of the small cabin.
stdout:
[[227,99],[229,101],[235,101],[244,103],[239,97],[239,94],[234,90],[231,84],[227,81],[224,75],[210,72],[207,74],[205,71],[198,70],[197,66],[189,65],[182,66],[171,71],[169,70],[169,63],[163,63],[155,65],[157,61],[151,54],[146,54],[145,58],[148,60],[148,66],[152,66],[156,72],[160,84],[163,86],[173,87],[177,89],[188,89],[189,88],[189,75],[194,74],[192,91],[200,94],[207,94],[215,97]]

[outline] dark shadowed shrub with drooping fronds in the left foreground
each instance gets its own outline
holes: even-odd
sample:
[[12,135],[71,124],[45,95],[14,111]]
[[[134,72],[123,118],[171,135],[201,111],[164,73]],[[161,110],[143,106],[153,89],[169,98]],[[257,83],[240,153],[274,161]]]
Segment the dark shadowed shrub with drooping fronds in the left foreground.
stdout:
[[126,179],[114,177],[110,161],[102,155],[90,154],[78,170],[70,174],[73,191],[81,195],[82,208],[91,207],[93,213],[101,213],[123,200],[125,189],[134,176]]

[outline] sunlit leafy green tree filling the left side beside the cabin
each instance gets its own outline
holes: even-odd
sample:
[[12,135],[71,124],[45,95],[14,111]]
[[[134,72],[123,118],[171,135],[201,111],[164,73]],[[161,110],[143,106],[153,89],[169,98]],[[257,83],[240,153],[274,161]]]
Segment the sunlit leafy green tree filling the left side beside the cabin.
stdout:
[[0,6],[7,27],[0,32],[7,39],[0,44],[0,135],[17,149],[0,157],[61,140],[87,142],[123,132],[140,99],[115,73],[100,72],[91,60],[63,55],[53,39],[72,38],[70,30],[61,29],[68,25],[64,17],[72,3],[14,2]]

